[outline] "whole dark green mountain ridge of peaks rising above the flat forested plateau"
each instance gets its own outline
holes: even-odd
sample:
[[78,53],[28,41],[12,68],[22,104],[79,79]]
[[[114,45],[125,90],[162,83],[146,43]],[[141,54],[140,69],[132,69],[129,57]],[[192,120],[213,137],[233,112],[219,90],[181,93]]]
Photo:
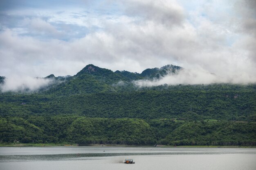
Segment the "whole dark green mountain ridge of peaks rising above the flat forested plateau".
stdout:
[[[161,68],[146,69],[141,74],[128,71],[113,72],[110,69],[100,68],[95,65],[87,65],[74,76],[66,80],[58,79],[53,74],[46,78],[60,80],[61,83],[53,85],[45,93],[50,94],[88,94],[97,92],[115,92],[135,90],[132,81],[142,79],[154,79],[175,73],[182,67],[166,65]],[[120,86],[122,84],[122,86]]]

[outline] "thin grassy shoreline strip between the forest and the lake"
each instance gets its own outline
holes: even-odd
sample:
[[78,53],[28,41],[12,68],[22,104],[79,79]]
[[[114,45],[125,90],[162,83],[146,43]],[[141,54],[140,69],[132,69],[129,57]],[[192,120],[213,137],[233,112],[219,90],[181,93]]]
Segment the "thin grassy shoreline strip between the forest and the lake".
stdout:
[[88,144],[79,145],[76,143],[0,143],[0,147],[152,147],[152,148],[256,148],[256,146],[218,146],[218,145],[117,145],[117,144]]

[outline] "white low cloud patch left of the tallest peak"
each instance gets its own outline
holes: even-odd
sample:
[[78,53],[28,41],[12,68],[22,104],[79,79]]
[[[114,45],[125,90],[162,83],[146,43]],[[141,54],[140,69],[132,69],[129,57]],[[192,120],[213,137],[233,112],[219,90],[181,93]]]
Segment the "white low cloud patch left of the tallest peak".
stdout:
[[35,92],[40,88],[56,83],[53,78],[33,78],[29,76],[11,76],[0,85],[2,92]]

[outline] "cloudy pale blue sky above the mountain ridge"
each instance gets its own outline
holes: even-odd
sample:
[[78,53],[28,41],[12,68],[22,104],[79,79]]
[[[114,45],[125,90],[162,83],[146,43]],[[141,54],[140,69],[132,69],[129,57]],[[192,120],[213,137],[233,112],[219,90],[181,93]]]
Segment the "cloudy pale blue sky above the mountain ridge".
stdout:
[[0,1],[0,76],[73,76],[88,64],[173,64],[202,80],[256,83],[256,1]]

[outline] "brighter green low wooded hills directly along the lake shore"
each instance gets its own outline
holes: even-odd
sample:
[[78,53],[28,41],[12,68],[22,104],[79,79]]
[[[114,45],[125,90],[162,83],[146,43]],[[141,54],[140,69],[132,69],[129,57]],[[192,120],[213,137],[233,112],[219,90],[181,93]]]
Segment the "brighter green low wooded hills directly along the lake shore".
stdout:
[[0,118],[1,142],[127,145],[256,145],[256,123],[110,119],[83,116]]

